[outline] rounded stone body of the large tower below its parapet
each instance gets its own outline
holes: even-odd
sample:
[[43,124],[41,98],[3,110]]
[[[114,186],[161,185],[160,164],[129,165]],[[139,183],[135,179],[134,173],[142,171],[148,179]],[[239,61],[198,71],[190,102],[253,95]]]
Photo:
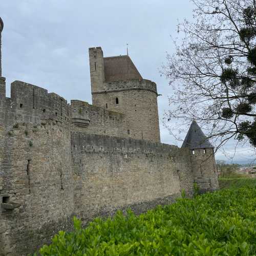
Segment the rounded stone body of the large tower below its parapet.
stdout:
[[101,108],[106,108],[108,104],[108,110],[125,114],[127,130],[130,130],[132,138],[160,142],[155,92],[138,88],[105,91],[93,94],[93,103]]

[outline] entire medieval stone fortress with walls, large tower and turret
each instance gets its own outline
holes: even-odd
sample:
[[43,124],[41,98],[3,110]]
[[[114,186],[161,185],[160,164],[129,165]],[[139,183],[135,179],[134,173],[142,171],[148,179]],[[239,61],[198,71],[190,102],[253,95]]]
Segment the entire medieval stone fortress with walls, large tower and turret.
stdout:
[[1,75],[0,255],[34,252],[73,216],[139,213],[191,195],[194,182],[218,188],[197,123],[182,148],[160,143],[156,84],[129,56],[105,58],[100,47],[89,56],[92,105],[21,81],[8,98]]

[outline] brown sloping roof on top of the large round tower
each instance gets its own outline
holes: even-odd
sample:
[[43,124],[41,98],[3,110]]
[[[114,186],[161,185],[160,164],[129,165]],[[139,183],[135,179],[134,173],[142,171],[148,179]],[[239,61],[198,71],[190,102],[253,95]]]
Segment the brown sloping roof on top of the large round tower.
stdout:
[[104,57],[105,81],[142,79],[131,58],[127,55]]

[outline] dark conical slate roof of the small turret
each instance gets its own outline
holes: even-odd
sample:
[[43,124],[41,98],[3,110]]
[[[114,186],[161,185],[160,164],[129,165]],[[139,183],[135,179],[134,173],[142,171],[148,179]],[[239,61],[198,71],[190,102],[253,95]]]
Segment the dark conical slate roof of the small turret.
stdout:
[[209,148],[214,146],[211,145],[197,122],[193,120],[181,147],[189,147],[192,150],[194,148]]

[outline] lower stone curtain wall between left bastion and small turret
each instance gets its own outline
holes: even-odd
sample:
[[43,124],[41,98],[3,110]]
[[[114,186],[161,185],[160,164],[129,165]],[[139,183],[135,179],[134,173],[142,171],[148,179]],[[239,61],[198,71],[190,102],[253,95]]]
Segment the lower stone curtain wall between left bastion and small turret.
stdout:
[[192,193],[189,150],[144,140],[71,135],[75,212],[82,220],[117,208],[141,212]]

